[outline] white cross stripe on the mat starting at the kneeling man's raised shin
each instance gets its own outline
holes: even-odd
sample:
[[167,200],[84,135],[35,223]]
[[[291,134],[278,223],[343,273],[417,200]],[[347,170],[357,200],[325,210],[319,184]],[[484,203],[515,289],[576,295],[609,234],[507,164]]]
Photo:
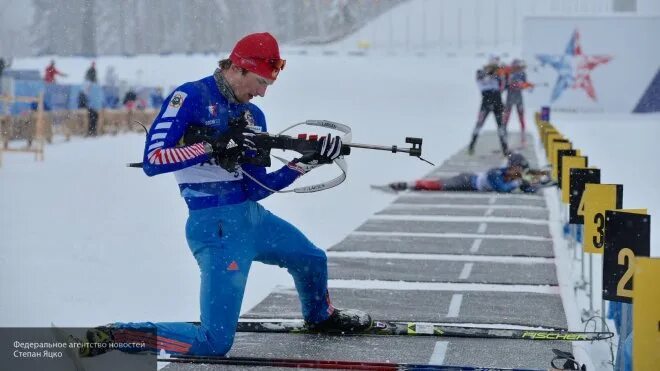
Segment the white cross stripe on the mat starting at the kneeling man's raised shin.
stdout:
[[552,285],[509,285],[494,283],[457,283],[457,282],[407,282],[381,280],[328,280],[332,289],[367,289],[398,291],[488,291],[488,292],[526,292],[559,295],[559,287]]

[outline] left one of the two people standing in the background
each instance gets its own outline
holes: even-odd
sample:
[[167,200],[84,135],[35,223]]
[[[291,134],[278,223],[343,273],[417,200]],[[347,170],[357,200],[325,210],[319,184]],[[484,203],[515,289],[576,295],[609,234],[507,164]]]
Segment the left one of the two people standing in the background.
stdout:
[[492,59],[484,66],[483,69],[477,71],[477,86],[481,90],[481,108],[477,116],[477,124],[472,132],[472,140],[468,146],[468,152],[474,153],[474,146],[477,143],[479,131],[486,121],[486,117],[490,112],[495,115],[497,122],[497,134],[500,137],[500,144],[502,145],[502,153],[509,154],[509,146],[506,139],[506,127],[502,122],[502,90],[504,89],[504,79],[500,74],[500,66],[497,61]]

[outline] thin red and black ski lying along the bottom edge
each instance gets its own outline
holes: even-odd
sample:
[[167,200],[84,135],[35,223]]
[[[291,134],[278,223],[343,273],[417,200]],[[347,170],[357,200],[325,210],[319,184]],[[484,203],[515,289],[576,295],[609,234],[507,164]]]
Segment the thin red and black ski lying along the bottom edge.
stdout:
[[298,358],[261,358],[261,357],[209,357],[209,356],[170,356],[170,358],[158,358],[158,362],[193,363],[193,364],[218,364],[232,366],[251,367],[289,367],[289,368],[317,368],[335,370],[373,370],[373,371],[546,371],[547,369],[527,368],[497,368],[497,367],[474,367],[474,366],[444,366],[413,363],[390,363],[390,362],[363,362],[363,361],[341,361],[341,360],[317,360]]

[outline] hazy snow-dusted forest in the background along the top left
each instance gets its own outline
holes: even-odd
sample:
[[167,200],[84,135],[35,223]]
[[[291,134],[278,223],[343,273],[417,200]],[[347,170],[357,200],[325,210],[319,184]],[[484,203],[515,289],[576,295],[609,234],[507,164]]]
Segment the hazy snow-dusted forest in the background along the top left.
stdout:
[[345,36],[403,0],[33,0],[36,54],[227,52],[268,31],[282,42]]

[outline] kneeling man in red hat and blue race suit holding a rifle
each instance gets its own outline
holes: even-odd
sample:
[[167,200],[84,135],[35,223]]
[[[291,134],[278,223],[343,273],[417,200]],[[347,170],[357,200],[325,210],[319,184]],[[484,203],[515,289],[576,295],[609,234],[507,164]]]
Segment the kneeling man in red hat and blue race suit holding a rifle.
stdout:
[[[250,100],[263,97],[284,66],[272,35],[245,36],[213,75],[185,83],[165,99],[147,136],[145,173],[173,172],[188,205],[186,238],[201,272],[200,323],[113,323],[89,330],[88,341],[144,341],[153,351],[224,355],[234,341],[253,261],[287,268],[310,329],[359,332],[371,326],[367,313],[333,307],[325,252],[296,227],[264,209],[257,201],[272,192],[253,180],[283,189],[336,159],[340,137],[323,137],[315,159],[293,160],[271,173],[249,164],[233,170],[219,166],[226,165],[227,159],[255,154],[250,136],[267,128],[264,113]],[[186,129],[195,124],[223,135],[181,145]],[[83,348],[80,355],[94,356],[105,349]]]

